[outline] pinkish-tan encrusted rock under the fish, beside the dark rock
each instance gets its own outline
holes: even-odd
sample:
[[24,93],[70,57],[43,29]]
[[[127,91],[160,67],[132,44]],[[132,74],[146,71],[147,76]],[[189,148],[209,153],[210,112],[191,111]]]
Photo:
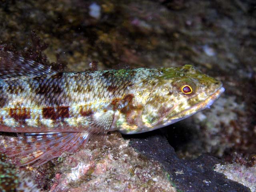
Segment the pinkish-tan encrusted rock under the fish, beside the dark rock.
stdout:
[[118,133],[108,137],[63,155],[50,191],[176,191],[157,161],[134,152]]

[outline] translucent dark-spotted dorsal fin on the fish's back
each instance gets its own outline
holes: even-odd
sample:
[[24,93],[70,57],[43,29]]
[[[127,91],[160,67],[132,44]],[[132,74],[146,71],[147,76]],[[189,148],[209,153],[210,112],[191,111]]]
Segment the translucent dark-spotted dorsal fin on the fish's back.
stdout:
[[51,76],[57,72],[38,62],[9,52],[0,52],[0,80]]

